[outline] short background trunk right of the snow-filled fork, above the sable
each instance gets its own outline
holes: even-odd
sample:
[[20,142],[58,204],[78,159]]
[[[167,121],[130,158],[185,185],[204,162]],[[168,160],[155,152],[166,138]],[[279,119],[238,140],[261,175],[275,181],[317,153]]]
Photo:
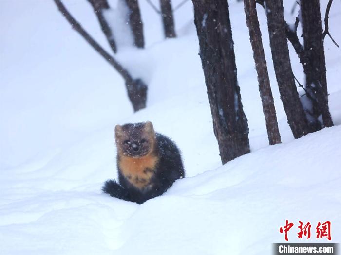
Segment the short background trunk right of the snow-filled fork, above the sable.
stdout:
[[125,0],[125,2],[129,8],[129,24],[133,32],[134,45],[137,48],[144,48],[143,23],[138,2],[137,0]]

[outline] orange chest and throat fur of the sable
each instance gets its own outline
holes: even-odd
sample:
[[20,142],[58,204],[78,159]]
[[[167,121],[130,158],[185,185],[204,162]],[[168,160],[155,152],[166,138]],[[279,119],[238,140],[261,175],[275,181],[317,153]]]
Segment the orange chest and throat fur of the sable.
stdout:
[[157,163],[158,158],[154,155],[146,155],[140,158],[121,155],[118,165],[121,174],[135,187],[142,189],[150,185]]

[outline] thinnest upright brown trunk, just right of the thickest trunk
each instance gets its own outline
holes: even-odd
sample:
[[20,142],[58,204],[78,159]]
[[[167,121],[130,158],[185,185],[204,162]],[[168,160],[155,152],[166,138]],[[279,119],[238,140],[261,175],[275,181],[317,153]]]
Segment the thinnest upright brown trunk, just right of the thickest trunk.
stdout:
[[250,42],[253,50],[253,59],[255,61],[257,70],[259,92],[262,99],[267,137],[269,138],[270,144],[281,143],[281,136],[278,129],[276,117],[276,109],[273,103],[270,80],[267,73],[265,54],[262,43],[262,33],[259,28],[257,17],[256,1],[244,0],[244,9],[246,14],[246,24],[250,34]]

